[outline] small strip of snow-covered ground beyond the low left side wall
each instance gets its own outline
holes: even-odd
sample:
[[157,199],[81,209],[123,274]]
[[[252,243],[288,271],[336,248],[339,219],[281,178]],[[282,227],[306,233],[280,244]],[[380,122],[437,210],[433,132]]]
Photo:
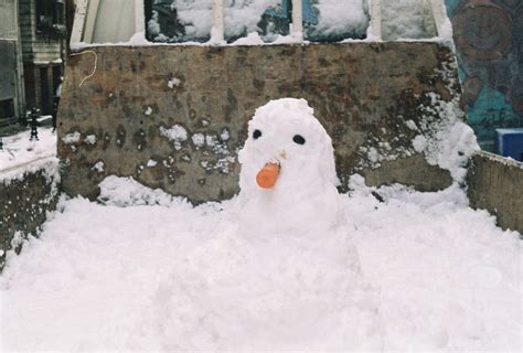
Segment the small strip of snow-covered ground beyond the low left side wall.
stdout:
[[38,141],[30,141],[30,136],[31,132],[28,130],[2,139],[0,172],[56,156],[56,133],[52,132],[52,128],[39,128]]

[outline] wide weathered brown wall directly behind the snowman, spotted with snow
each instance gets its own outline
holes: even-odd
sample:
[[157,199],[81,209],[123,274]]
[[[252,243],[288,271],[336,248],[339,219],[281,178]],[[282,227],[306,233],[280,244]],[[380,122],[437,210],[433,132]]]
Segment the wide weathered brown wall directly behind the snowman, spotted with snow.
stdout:
[[435,100],[459,100],[457,75],[452,51],[435,42],[94,47],[67,61],[63,189],[94,199],[116,174],[195,203],[228,199],[247,121],[281,97],[314,108],[333,140],[341,191],[355,171],[372,184],[442,189],[448,171],[412,140],[441,118],[427,109]]

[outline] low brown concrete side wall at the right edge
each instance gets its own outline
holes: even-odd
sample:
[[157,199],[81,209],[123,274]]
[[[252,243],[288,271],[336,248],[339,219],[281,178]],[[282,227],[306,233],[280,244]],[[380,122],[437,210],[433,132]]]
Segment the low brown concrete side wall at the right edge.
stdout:
[[523,163],[480,151],[468,168],[470,206],[495,215],[502,228],[523,234]]

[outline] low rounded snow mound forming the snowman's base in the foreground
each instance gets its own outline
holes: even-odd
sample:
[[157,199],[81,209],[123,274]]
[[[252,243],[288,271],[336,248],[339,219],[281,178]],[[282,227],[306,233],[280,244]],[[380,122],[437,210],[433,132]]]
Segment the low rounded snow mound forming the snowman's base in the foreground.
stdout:
[[233,229],[217,235],[173,260],[128,347],[381,347],[375,291],[314,245],[257,242]]

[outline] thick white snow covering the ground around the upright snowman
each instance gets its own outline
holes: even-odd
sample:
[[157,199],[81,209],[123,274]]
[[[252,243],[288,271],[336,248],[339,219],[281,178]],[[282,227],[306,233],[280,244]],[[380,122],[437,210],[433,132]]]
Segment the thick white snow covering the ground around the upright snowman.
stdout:
[[348,334],[356,347],[521,349],[519,234],[458,188],[382,188],[378,202],[352,179],[343,207],[370,295],[348,290],[348,304],[373,319],[351,322],[338,314],[343,272],[319,276],[320,292],[291,263],[291,277],[237,277],[270,256],[231,238],[234,201],[193,207],[114,176],[102,186],[103,203],[63,199],[40,239],[8,259],[2,352],[339,349]]

